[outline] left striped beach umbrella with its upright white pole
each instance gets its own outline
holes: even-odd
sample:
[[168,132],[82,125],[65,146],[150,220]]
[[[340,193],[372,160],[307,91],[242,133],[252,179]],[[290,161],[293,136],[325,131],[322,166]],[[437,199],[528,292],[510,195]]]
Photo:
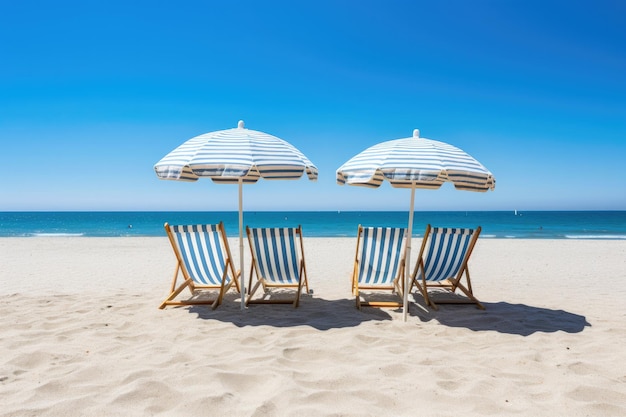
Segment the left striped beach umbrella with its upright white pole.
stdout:
[[290,143],[256,130],[242,120],[236,128],[196,136],[154,165],[160,179],[197,181],[206,177],[219,184],[239,185],[239,259],[241,308],[245,308],[243,266],[243,184],[267,180],[295,180],[306,173],[317,180],[317,167]]

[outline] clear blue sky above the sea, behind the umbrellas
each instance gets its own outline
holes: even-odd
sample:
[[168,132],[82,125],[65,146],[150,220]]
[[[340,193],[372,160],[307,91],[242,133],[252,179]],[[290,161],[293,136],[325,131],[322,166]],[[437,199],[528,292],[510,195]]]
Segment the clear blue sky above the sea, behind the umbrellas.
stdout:
[[320,171],[245,186],[246,210],[406,210],[335,170],[415,128],[497,180],[418,190],[417,210],[626,210],[622,0],[0,6],[0,211],[237,210],[236,186],[153,165],[239,119]]

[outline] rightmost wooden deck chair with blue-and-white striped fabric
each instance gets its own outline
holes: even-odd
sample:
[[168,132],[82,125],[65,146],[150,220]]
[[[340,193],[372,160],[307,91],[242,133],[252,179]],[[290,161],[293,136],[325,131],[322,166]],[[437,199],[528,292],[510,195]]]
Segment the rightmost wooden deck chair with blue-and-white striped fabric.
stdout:
[[[480,231],[480,226],[475,230],[426,226],[422,247],[411,274],[411,290],[416,286],[422,293],[426,305],[437,309],[437,305],[428,294],[430,288],[442,289],[448,293],[455,293],[459,289],[466,297],[445,298],[438,300],[437,303],[474,303],[478,308],[485,309],[474,297],[467,266]],[[463,276],[466,285],[461,282]]]

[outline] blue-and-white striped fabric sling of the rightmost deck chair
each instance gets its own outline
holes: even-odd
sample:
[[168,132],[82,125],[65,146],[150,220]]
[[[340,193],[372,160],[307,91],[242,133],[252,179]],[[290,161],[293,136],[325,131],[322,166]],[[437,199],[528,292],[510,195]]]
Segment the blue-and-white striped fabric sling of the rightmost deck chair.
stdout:
[[[428,237],[424,270],[426,281],[443,281],[457,277],[474,234],[473,229],[433,227]],[[422,280],[422,271],[417,276]]]

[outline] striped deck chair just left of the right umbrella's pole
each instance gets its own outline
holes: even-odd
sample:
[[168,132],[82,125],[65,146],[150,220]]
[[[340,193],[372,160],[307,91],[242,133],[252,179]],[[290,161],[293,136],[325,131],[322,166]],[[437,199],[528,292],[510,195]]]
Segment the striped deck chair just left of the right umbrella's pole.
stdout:
[[362,301],[360,292],[391,291],[402,298],[406,229],[359,225],[352,271],[352,294],[356,306],[402,307],[400,301]]

